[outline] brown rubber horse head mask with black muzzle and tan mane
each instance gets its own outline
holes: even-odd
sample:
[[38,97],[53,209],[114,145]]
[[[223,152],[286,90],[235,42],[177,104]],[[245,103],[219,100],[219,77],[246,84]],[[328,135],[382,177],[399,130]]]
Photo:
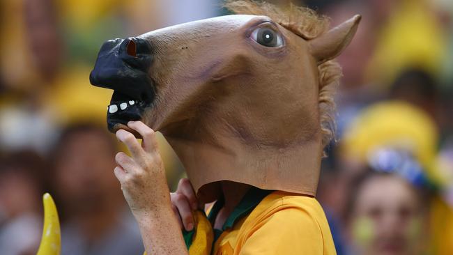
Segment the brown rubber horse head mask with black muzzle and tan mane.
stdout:
[[332,136],[332,61],[360,16],[328,31],[312,10],[228,1],[239,15],[102,45],[91,84],[114,90],[109,130],[162,132],[194,190],[220,180],[313,195]]

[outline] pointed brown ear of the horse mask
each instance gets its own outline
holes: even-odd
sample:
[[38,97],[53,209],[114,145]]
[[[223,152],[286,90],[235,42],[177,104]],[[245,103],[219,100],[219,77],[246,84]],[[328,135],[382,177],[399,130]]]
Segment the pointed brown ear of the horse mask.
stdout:
[[310,53],[318,61],[318,64],[335,59],[343,52],[353,39],[361,18],[360,15],[355,15],[318,38],[309,40]]

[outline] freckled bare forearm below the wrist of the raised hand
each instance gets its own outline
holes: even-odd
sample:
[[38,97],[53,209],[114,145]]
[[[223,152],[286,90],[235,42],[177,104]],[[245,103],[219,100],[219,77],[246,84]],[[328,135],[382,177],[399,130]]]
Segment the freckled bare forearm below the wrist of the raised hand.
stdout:
[[136,215],[146,254],[189,254],[185,247],[181,228],[170,206],[165,205],[157,212]]

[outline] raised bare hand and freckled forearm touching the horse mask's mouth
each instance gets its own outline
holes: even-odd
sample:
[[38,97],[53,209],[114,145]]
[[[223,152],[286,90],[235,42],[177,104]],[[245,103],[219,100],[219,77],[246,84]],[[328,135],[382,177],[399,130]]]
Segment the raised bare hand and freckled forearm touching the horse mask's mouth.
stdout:
[[134,134],[118,130],[116,137],[129,149],[131,156],[116,154],[114,169],[121,183],[124,197],[139,224],[141,238],[148,255],[188,254],[183,234],[171,208],[170,192],[165,178],[164,164],[158,150],[155,132],[141,121],[130,121]]

